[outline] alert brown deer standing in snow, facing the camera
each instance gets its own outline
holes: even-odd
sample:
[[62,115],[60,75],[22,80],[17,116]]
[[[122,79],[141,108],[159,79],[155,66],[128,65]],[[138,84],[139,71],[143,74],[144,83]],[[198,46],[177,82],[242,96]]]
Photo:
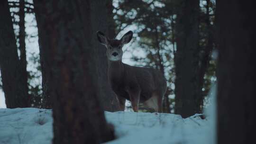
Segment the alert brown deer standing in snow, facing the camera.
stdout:
[[167,87],[164,74],[154,68],[122,63],[122,47],[128,44],[132,37],[132,31],[128,31],[121,39],[110,39],[101,31],[97,31],[98,41],[107,48],[108,79],[116,94],[119,110],[125,110],[127,99],[131,102],[134,112],[138,112],[140,103],[155,109],[155,112],[162,112]]

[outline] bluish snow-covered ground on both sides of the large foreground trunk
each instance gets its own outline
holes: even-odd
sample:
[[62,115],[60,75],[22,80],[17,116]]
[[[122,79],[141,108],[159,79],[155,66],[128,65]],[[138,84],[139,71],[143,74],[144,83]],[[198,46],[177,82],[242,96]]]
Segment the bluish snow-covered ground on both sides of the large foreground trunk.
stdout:
[[[209,120],[197,115],[105,112],[118,139],[107,144],[211,144]],[[51,144],[52,111],[0,108],[0,144]]]

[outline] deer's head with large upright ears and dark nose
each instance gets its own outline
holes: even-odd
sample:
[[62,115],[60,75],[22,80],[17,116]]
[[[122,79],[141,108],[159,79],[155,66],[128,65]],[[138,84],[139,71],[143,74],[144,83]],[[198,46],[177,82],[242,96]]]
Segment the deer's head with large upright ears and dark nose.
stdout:
[[121,61],[122,60],[122,47],[128,44],[132,39],[132,31],[128,31],[120,40],[109,39],[102,32],[97,32],[97,37],[101,45],[105,45],[107,48],[107,57],[110,61]]

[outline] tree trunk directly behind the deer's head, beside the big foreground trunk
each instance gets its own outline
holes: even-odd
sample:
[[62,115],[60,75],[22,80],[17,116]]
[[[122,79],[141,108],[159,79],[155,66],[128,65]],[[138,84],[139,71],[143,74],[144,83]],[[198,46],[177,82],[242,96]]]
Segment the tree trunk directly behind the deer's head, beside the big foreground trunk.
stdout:
[[[107,1],[112,0],[91,0],[91,13],[89,17],[91,18],[91,46],[94,47],[97,59],[98,68],[98,92],[100,96],[100,101],[103,109],[106,111],[117,111],[119,110],[118,101],[116,99],[115,93],[111,90],[109,80],[108,80],[108,60],[106,55],[106,48],[98,42],[96,39],[96,32],[98,30],[102,32],[109,32],[111,35],[115,35],[114,29],[108,29],[112,27],[108,25],[108,20],[110,19],[107,15],[109,9],[107,9]],[[109,4],[109,2],[108,2]],[[87,21],[85,17],[84,21]],[[96,63],[95,63],[96,64]]]

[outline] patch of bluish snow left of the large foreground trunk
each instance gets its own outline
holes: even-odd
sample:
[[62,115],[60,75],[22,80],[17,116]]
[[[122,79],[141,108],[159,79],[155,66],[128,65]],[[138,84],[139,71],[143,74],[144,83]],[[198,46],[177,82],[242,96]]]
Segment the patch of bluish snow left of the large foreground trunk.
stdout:
[[0,108],[0,144],[51,144],[52,111]]

